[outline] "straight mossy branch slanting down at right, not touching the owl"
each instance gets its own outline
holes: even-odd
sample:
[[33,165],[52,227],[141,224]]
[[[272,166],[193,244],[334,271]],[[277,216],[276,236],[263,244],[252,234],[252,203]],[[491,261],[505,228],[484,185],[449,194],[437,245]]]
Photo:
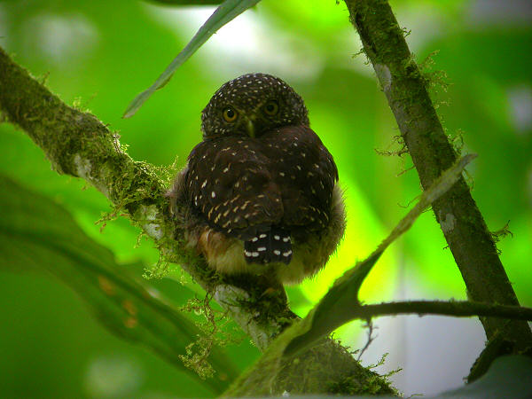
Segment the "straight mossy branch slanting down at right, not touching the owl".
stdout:
[[[442,124],[386,0],[345,0],[388,105],[395,114],[419,180],[426,189],[456,160]],[[433,204],[434,215],[472,301],[519,306],[497,248],[463,178]],[[480,317],[488,339],[504,332],[519,352],[532,344],[525,321]]]

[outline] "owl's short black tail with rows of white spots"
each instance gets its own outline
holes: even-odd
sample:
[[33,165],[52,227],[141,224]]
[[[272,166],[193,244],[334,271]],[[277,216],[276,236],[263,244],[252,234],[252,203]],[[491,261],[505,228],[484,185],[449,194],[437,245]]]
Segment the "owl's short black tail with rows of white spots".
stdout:
[[276,226],[257,231],[253,239],[244,242],[244,256],[247,263],[290,263],[292,260],[290,232]]

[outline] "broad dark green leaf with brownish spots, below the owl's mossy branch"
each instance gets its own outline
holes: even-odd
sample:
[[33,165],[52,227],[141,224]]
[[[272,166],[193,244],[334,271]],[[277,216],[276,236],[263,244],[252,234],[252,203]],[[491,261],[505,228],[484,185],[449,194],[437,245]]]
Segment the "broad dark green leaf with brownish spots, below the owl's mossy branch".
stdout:
[[[46,270],[74,289],[103,325],[124,340],[141,343],[195,378],[181,356],[201,335],[183,313],[133,278],[105,246],[90,239],[63,207],[0,175],[0,258],[11,270]],[[213,348],[217,374],[202,384],[220,393],[237,372]]]

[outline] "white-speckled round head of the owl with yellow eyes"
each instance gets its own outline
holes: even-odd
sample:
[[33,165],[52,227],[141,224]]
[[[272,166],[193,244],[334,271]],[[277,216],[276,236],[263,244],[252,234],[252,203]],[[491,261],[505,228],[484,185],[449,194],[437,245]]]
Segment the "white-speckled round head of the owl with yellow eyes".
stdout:
[[303,99],[270,74],[243,74],[215,92],[201,113],[203,137],[260,137],[270,129],[309,126]]

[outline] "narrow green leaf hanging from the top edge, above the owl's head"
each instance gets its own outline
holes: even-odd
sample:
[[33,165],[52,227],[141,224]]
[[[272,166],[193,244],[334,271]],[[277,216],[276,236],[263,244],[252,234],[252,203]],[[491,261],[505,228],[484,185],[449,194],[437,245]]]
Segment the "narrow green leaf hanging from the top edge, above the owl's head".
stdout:
[[207,22],[200,27],[198,33],[192,37],[192,40],[186,45],[183,51],[177,54],[177,57],[167,66],[164,72],[160,74],[159,78],[157,78],[152,86],[138,94],[137,97],[129,103],[129,106],[122,117],[129,118],[130,116],[133,116],[138,108],[145,103],[145,100],[150,98],[155,90],[159,90],[167,84],[172,78],[172,75],[176,72],[176,69],[181,66],[184,61],[189,59],[192,54],[203,45],[203,43],[207,42],[210,36],[214,35],[220,27],[223,27],[223,25],[260,1],[261,0],[225,0],[209,17]]

